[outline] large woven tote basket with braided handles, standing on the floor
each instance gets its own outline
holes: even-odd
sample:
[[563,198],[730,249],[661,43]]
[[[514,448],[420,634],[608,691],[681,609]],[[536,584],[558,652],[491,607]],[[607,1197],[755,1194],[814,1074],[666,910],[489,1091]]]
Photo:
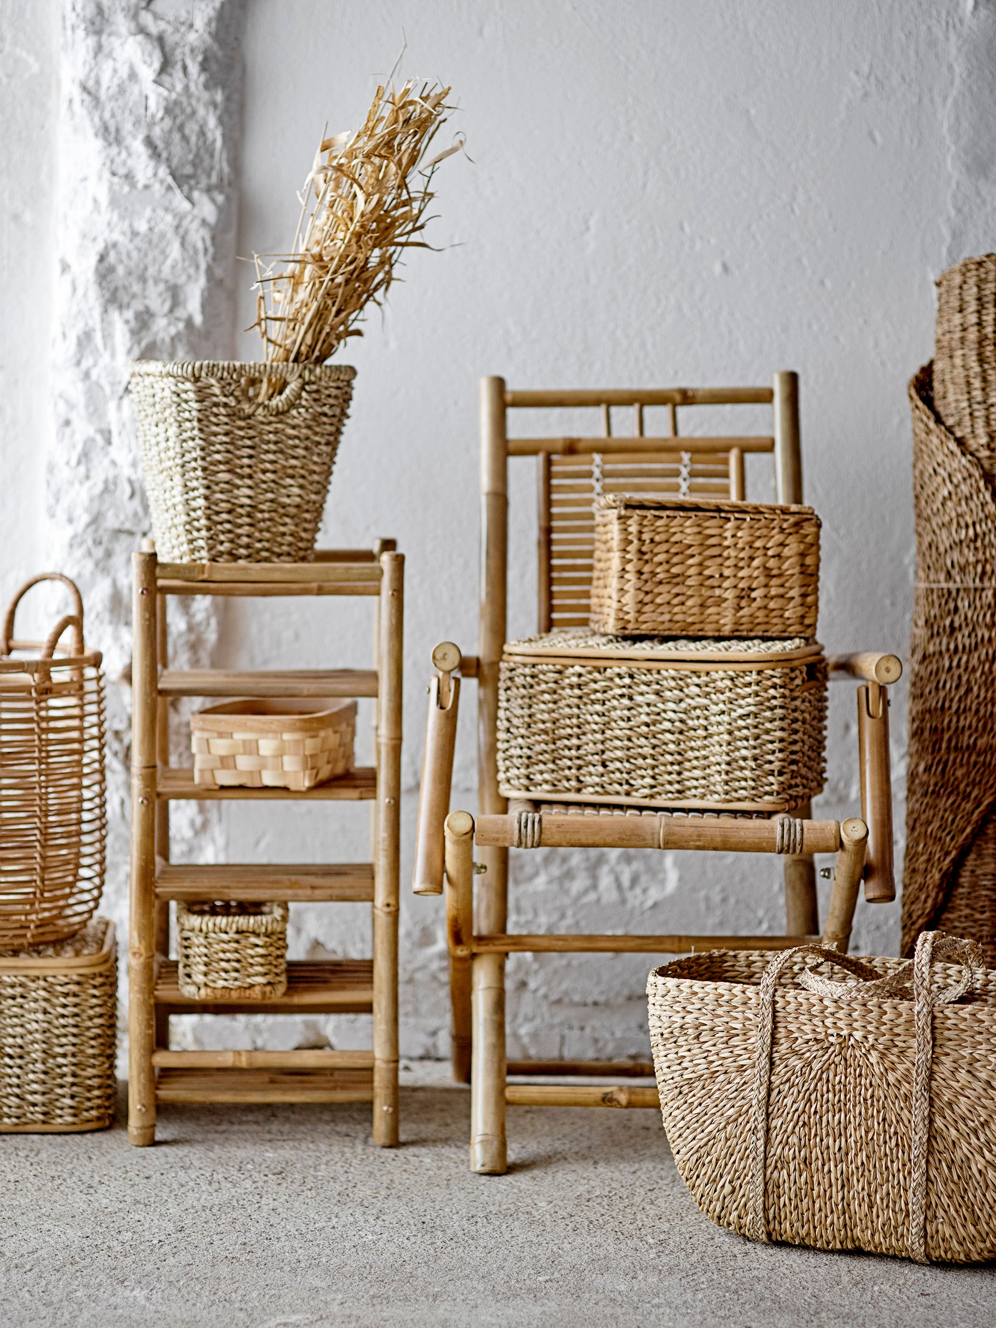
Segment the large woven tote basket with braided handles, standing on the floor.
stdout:
[[[831,957],[845,981],[806,969]],[[713,1222],[821,1250],[996,1256],[996,973],[972,942],[924,932],[912,961],[692,955],[647,993],[671,1151]]]

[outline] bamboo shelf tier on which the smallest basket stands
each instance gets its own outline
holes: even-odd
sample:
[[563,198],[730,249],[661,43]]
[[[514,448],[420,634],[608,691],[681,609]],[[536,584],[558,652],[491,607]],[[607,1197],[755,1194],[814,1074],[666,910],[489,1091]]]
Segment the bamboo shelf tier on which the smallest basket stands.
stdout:
[[290,960],[287,992],[272,1000],[203,1001],[183,996],[175,959],[159,963],[155,1005],[167,1015],[369,1015],[373,960]]

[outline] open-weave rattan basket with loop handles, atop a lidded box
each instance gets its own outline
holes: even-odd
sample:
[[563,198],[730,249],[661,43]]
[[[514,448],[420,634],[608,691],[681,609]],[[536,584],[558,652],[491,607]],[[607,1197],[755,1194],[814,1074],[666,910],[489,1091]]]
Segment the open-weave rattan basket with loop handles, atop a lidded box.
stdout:
[[[73,599],[44,643],[15,639],[15,612],[41,582]],[[58,643],[72,633],[68,651]],[[0,950],[72,936],[104,888],[104,675],[84,644],[82,600],[44,572],[15,595],[0,627]]]

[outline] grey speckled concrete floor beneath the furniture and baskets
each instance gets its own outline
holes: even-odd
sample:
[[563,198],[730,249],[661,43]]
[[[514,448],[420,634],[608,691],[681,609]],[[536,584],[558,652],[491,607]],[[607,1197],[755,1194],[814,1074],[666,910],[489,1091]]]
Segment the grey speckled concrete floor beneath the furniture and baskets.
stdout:
[[[161,1143],[0,1138],[0,1324],[72,1328],[991,1325],[996,1268],[756,1246],[713,1227],[653,1112],[510,1109],[466,1169],[469,1094],[161,1110]],[[120,1122],[124,1121],[124,1093]]]

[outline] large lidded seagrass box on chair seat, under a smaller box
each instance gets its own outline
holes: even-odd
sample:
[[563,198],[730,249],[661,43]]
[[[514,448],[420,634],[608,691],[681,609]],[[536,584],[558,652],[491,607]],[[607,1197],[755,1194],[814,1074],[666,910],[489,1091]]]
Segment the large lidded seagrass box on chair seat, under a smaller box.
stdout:
[[560,631],[505,647],[505,797],[790,810],[823,788],[826,660],[801,637],[624,640]]

